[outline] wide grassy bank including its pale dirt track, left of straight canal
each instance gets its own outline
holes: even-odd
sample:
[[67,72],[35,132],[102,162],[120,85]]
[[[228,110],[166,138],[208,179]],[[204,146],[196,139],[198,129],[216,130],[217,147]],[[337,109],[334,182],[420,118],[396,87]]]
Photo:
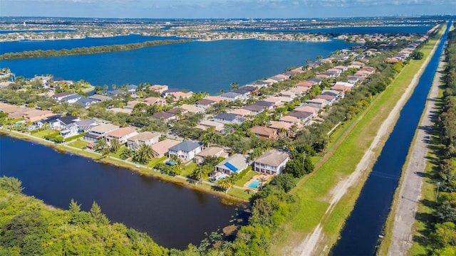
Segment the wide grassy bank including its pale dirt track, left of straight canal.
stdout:
[[[436,47],[437,38],[431,39],[423,46],[421,50],[425,56],[430,55]],[[381,147],[393,126],[386,125],[385,135],[380,139],[375,137],[400,97],[405,95],[399,107],[396,107],[398,110],[407,100],[415,85],[413,76],[418,73],[415,77],[419,77],[425,63],[425,59],[411,60],[386,90],[375,97],[371,107],[363,113],[362,119],[338,146],[331,159],[309,176],[302,186],[296,188],[295,194],[299,196],[300,201],[299,210],[279,228],[279,232],[274,234],[272,255],[324,254],[336,242],[343,223],[353,210],[363,182],[368,176],[368,170],[375,163],[376,156],[380,154]],[[397,118],[398,112],[395,113],[393,121]],[[368,154],[372,157],[367,158],[366,169],[361,176],[349,178],[366,151],[373,145],[374,139],[377,145],[373,146],[373,153]],[[331,203],[332,209],[329,209]]]

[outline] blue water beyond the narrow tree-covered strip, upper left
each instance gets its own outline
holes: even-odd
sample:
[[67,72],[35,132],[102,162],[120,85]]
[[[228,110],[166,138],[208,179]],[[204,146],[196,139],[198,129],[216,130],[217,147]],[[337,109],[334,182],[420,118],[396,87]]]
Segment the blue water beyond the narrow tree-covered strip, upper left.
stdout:
[[145,41],[156,40],[176,40],[180,39],[175,36],[113,36],[105,38],[81,38],[81,39],[66,39],[66,40],[23,40],[14,42],[1,42],[0,54],[3,53],[18,53],[24,50],[61,50],[73,49],[90,46],[112,46],[115,44],[125,43],[142,43]]

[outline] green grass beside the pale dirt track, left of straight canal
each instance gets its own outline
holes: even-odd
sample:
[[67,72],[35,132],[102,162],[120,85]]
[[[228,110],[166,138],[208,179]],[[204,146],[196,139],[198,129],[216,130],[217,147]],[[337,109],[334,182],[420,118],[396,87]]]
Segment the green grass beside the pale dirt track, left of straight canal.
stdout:
[[[422,51],[425,58],[430,54],[436,42],[437,39],[431,39],[423,46]],[[322,252],[323,248],[330,247],[336,242],[343,223],[351,213],[369,172],[365,171],[361,181],[348,189],[328,218],[321,219],[329,206],[331,189],[356,169],[378,133],[378,128],[393,110],[395,103],[398,102],[413,80],[415,73],[418,73],[421,65],[425,62],[425,58],[423,60],[411,60],[387,89],[375,97],[370,107],[361,114],[361,117],[358,117],[357,124],[354,124],[356,126],[351,132],[340,138],[343,139],[343,142],[332,152],[331,157],[327,161],[323,159],[321,161],[323,164],[319,166],[318,170],[299,183],[299,186],[294,190],[296,196],[299,196],[299,208],[274,234],[272,240],[275,242],[271,245],[273,255],[282,255],[285,248],[290,249],[299,245],[301,240],[306,238],[306,235],[309,235],[318,223],[322,225],[324,236],[319,241],[317,251]],[[392,129],[393,127],[390,127],[390,130]],[[374,149],[376,157],[380,154],[386,139],[387,137],[382,138],[380,145]],[[335,144],[338,143],[335,142]],[[375,159],[372,159],[369,170],[374,162]]]

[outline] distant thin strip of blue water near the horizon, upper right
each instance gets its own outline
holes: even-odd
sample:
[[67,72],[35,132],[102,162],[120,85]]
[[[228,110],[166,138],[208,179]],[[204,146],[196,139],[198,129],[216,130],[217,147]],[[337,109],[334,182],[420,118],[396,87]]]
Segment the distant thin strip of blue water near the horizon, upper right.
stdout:
[[229,32],[276,32],[276,33],[331,33],[331,34],[373,34],[373,33],[426,33],[432,26],[366,26],[366,27],[335,27],[335,28],[305,28],[305,29],[219,29],[216,31]]

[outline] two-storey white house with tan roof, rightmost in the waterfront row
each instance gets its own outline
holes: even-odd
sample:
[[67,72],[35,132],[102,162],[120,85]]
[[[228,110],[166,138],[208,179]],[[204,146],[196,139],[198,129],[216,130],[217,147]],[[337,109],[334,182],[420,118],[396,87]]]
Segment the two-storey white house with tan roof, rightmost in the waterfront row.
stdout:
[[271,175],[281,174],[289,160],[290,156],[285,152],[276,150],[267,151],[255,159],[254,171]]

